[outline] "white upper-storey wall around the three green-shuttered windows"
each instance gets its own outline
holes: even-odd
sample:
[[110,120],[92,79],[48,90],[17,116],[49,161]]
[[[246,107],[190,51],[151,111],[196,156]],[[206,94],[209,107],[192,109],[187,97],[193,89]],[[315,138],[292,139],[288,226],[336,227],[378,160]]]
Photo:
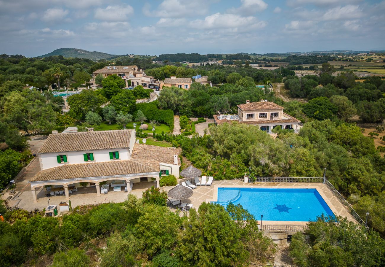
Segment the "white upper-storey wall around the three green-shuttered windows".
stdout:
[[[135,142],[135,137],[130,140],[131,142]],[[131,147],[131,144],[130,144]],[[132,144],[132,147],[133,144]],[[90,150],[90,151],[75,151],[75,152],[60,152],[60,153],[44,153],[38,154],[40,168],[42,170],[49,169],[53,167],[58,167],[63,164],[78,164],[78,163],[86,163],[86,162],[105,162],[111,161],[109,152],[118,151],[119,159],[113,159],[113,161],[119,160],[128,160],[131,158],[131,154],[129,153],[129,149],[109,149],[109,150]],[[131,149],[132,151],[132,149]],[[94,153],[94,161],[84,161],[83,154],[85,153]],[[67,163],[57,163],[57,155],[67,155]]]

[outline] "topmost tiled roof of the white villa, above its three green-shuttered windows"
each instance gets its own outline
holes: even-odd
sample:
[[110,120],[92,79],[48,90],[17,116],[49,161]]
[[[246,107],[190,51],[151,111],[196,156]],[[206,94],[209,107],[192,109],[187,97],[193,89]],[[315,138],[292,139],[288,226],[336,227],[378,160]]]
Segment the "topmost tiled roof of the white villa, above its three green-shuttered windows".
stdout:
[[134,130],[50,134],[37,153],[128,148]]

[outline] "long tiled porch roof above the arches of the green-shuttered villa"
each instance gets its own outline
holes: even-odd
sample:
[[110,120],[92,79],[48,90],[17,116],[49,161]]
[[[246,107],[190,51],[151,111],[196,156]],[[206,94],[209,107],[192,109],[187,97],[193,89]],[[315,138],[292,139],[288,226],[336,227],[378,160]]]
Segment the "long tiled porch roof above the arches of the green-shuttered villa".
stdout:
[[106,161],[63,164],[59,167],[39,171],[32,177],[30,182],[116,176],[148,172],[159,172],[159,166],[157,169],[154,169],[136,161]]

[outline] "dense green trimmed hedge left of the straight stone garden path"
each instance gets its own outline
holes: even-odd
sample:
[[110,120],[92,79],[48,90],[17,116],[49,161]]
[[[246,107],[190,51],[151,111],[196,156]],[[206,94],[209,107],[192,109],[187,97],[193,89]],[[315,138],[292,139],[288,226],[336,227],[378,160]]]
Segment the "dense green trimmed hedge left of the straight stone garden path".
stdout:
[[157,103],[158,101],[138,103],[136,104],[136,110],[141,110],[148,121],[156,120],[157,122],[166,123],[171,131],[174,130],[174,112],[172,110],[159,109]]

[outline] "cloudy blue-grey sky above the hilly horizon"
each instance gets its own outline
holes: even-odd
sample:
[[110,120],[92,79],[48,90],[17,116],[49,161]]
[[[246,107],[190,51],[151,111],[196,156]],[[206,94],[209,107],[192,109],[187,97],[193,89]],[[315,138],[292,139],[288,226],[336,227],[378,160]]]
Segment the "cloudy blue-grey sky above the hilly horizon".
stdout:
[[0,54],[385,49],[385,0],[0,0]]

